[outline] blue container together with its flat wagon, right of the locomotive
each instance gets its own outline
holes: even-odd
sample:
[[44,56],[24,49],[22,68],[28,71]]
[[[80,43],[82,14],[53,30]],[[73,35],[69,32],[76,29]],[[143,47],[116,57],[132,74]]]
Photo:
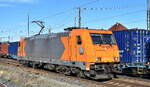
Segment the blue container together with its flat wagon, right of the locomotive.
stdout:
[[113,34],[120,50],[119,70],[129,75],[148,74],[150,31],[130,29],[113,31]]

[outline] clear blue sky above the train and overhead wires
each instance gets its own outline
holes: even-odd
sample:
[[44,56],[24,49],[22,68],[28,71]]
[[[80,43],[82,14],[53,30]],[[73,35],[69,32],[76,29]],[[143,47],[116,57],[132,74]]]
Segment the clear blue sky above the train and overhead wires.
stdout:
[[[146,29],[146,0],[0,0],[0,37],[10,36],[14,41],[27,36],[28,12],[31,21],[45,22],[43,33],[47,33],[48,28],[52,32],[62,32],[75,25],[78,6],[113,8],[82,10],[82,27],[108,29],[119,22],[128,28]],[[31,23],[30,35],[38,31],[39,27]]]

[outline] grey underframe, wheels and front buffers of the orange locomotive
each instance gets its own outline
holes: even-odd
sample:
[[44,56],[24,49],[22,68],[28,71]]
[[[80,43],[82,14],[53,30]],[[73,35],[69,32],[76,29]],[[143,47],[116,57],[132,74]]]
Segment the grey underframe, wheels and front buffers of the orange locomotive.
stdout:
[[90,70],[86,70],[86,63],[79,61],[37,60],[37,58],[34,60],[25,57],[19,57],[18,60],[33,68],[42,67],[67,75],[91,79],[111,79],[115,75],[115,65],[117,65],[117,63],[95,63],[90,65]]

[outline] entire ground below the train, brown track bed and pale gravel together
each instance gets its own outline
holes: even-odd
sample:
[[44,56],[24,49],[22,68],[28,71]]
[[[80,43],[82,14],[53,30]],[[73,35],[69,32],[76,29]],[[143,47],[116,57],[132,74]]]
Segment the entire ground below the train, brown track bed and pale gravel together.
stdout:
[[149,79],[119,75],[112,80],[88,80],[0,59],[0,87],[150,87]]

